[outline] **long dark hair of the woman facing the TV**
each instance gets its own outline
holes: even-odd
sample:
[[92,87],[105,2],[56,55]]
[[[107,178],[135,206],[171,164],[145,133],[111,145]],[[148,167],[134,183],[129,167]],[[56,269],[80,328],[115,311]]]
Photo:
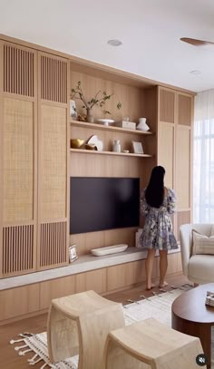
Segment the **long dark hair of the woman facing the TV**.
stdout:
[[151,179],[145,191],[145,198],[152,208],[160,208],[164,197],[165,170],[163,167],[154,167],[151,171]]

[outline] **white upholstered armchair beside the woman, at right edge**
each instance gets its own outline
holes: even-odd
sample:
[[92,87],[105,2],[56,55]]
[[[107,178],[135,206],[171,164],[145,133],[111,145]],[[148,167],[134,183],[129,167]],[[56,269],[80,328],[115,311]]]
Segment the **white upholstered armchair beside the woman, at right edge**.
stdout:
[[184,224],[180,227],[183,274],[199,285],[214,282],[214,255],[191,255],[192,229],[210,237],[212,228],[213,224]]

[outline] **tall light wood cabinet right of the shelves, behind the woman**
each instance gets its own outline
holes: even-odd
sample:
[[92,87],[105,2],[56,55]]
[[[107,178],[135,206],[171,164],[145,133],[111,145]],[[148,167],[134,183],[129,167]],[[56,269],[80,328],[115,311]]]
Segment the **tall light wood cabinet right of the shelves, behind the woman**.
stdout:
[[174,231],[191,221],[191,128],[193,96],[159,87],[158,164],[166,169],[165,184],[175,189]]

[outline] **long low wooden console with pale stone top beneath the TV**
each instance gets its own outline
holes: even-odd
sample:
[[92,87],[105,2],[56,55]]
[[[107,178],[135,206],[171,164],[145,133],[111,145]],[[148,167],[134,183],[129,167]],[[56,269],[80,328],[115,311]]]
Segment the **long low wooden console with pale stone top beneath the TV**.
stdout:
[[[145,281],[146,251],[127,248],[104,257],[84,255],[66,267],[57,267],[0,280],[0,325],[47,312],[53,298],[93,289],[101,295]],[[180,250],[169,255],[168,274],[180,273]],[[158,277],[158,255],[153,277]],[[173,267],[172,267],[173,266]],[[19,304],[16,304],[19,301]]]

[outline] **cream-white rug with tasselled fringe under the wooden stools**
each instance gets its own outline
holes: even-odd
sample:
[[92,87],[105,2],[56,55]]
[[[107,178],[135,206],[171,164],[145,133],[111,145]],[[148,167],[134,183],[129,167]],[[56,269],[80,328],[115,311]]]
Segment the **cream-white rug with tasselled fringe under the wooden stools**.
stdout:
[[[174,299],[180,296],[183,291],[190,289],[189,285],[181,286],[178,289],[172,289],[170,292],[164,292],[160,295],[155,295],[146,298],[141,297],[140,301],[131,302],[131,304],[123,306],[125,324],[131,325],[134,322],[146,319],[148,317],[154,317],[161,323],[171,325],[171,304]],[[128,300],[131,301],[131,300]],[[53,368],[53,369],[77,369],[78,368],[78,355],[70,357],[63,362],[52,364],[48,357],[47,350],[47,335],[46,332],[32,335],[24,333],[20,335],[22,338],[18,340],[11,340],[10,343],[16,344],[15,351],[19,355],[24,355],[28,352],[33,352],[34,356],[28,359],[30,365],[41,362],[41,369]],[[214,369],[214,329],[212,331],[212,365]]]

